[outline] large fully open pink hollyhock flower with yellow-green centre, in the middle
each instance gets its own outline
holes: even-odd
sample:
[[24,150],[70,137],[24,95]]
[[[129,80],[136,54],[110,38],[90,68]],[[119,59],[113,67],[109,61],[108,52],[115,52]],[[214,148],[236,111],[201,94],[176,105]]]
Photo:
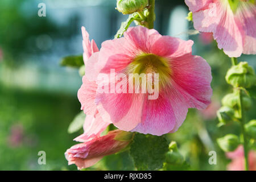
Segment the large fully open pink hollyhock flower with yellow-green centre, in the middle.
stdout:
[[[128,77],[129,83],[133,81],[130,73],[158,73],[159,85],[154,86],[159,91],[158,98],[149,100],[148,93],[97,90],[93,104],[97,104],[101,118],[121,130],[163,135],[181,126],[189,107],[205,109],[212,96],[212,76],[208,63],[191,54],[192,44],[192,40],[162,36],[156,30],[141,26],[129,28],[123,38],[102,43],[100,52],[94,53],[87,62],[84,80],[97,81],[102,74],[110,77],[112,69]],[[78,96],[87,110],[92,105],[86,101],[88,94],[82,94],[86,93],[85,84]]]

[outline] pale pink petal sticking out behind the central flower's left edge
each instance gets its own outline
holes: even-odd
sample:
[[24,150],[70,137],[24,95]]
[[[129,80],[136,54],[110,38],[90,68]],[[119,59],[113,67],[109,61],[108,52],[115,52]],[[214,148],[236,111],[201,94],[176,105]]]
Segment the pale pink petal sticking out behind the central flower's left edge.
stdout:
[[94,115],[96,113],[96,90],[97,84],[95,81],[89,81],[86,76],[82,77],[82,86],[77,93],[77,97],[81,103],[81,110],[85,114]]

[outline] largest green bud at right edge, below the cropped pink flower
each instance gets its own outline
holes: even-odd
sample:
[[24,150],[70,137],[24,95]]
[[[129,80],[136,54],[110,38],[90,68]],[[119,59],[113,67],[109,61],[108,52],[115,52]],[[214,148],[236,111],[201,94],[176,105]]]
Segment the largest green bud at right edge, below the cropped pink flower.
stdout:
[[256,84],[254,69],[247,62],[240,62],[234,65],[228,70],[225,78],[226,82],[234,87],[250,88]]

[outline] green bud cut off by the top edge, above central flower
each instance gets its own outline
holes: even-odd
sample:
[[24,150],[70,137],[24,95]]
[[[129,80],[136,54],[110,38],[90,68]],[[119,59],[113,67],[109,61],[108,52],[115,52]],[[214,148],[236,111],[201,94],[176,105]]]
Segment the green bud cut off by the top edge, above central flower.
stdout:
[[125,15],[142,11],[147,5],[148,0],[117,0],[117,10]]

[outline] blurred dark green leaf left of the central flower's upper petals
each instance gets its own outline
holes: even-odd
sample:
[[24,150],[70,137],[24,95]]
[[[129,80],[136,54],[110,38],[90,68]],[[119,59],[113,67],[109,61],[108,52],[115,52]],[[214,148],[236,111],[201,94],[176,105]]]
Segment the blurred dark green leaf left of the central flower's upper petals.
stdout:
[[64,67],[80,68],[84,65],[84,60],[82,59],[82,55],[66,56],[60,61],[60,65]]

